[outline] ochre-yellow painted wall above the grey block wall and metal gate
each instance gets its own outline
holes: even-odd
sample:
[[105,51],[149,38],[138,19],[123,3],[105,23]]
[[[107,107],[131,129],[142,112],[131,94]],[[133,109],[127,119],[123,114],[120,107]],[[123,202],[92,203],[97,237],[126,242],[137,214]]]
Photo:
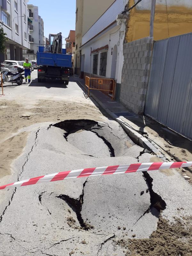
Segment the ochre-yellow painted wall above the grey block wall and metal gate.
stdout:
[[[130,0],[129,6],[133,4],[134,0]],[[130,17],[126,21],[126,41],[130,42],[149,36],[149,22],[150,10],[138,10],[137,8],[133,8]],[[168,5],[166,9],[166,5],[156,4],[154,40],[189,32],[192,32],[192,8],[184,5]]]

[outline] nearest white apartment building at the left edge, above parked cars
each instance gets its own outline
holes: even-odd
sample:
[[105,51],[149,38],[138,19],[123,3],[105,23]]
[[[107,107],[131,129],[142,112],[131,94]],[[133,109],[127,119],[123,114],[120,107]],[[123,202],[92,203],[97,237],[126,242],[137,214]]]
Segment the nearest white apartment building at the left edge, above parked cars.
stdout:
[[28,0],[1,0],[0,26],[7,34],[6,53],[0,53],[0,62],[22,60],[23,50],[30,48],[27,6]]

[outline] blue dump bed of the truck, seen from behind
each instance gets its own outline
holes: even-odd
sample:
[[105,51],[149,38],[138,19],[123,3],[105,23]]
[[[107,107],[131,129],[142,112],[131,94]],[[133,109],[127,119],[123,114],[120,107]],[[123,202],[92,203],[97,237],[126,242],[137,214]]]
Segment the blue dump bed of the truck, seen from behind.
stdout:
[[37,65],[71,68],[71,55],[37,52]]

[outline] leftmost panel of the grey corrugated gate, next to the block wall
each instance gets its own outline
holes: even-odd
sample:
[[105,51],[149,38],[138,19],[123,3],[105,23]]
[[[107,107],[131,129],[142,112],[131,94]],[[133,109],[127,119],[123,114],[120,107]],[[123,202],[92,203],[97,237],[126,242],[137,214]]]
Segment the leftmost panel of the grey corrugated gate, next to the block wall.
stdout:
[[154,44],[153,59],[147,89],[145,112],[155,119],[158,114],[166,45],[167,39],[158,41]]

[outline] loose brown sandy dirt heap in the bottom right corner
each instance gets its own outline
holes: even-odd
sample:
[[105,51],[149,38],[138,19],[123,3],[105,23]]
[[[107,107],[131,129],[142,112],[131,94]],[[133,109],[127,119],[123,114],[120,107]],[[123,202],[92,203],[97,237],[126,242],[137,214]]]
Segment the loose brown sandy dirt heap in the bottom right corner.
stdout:
[[124,248],[125,256],[191,256],[191,216],[182,217],[173,223],[160,217],[156,231],[149,238],[121,239],[116,243]]

